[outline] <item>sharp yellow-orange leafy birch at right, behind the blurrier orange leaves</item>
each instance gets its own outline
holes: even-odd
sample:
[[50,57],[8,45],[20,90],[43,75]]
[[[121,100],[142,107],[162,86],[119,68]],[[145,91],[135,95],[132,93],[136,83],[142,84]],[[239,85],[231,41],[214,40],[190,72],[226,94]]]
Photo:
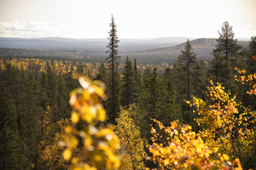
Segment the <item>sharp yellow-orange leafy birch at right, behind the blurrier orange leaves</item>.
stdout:
[[[213,85],[211,80],[209,83]],[[246,150],[253,145],[255,127],[250,125],[256,122],[255,111],[244,108],[243,113],[239,113],[240,103],[236,103],[236,96],[230,97],[230,92],[225,92],[218,83],[208,90],[206,102],[195,97],[190,102],[200,115],[196,119],[198,125],[205,127],[197,136],[210,149],[218,148],[234,157],[234,150],[243,150],[241,146]]]

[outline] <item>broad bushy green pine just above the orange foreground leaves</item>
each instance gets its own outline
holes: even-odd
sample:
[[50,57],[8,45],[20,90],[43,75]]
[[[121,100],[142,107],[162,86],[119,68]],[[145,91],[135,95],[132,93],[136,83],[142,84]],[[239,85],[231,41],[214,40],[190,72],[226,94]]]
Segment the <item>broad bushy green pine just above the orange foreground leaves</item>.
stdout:
[[169,124],[172,120],[181,120],[180,106],[176,103],[177,90],[172,86],[168,90],[165,78],[159,78],[156,67],[150,78],[145,79],[143,95],[140,98],[140,127],[146,138],[149,135],[151,118]]

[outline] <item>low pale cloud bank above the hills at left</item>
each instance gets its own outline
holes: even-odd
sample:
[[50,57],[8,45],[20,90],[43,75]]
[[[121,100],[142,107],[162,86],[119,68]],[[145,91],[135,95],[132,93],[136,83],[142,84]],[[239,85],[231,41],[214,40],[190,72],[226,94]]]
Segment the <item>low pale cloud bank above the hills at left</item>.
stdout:
[[74,33],[74,28],[70,26],[46,23],[42,21],[12,21],[0,22],[0,37],[66,37]]

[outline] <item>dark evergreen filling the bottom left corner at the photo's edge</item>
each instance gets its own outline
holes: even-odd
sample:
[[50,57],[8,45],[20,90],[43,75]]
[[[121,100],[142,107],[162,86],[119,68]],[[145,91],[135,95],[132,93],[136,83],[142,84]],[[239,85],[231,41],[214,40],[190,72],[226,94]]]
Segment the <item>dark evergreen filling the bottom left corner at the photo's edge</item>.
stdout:
[[0,82],[0,167],[1,169],[25,169],[26,159],[21,152],[17,129],[17,114],[12,95],[5,82]]

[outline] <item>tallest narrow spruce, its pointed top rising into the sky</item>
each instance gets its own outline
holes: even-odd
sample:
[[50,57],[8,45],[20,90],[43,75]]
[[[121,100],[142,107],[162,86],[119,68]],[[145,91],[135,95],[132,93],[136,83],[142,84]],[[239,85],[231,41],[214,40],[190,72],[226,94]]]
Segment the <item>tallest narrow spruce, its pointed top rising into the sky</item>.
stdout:
[[110,23],[110,31],[109,33],[109,43],[106,46],[108,50],[106,53],[109,53],[109,56],[106,58],[109,72],[108,72],[108,82],[107,82],[107,96],[108,101],[107,103],[107,114],[109,121],[112,123],[115,123],[116,119],[116,113],[118,111],[118,107],[120,106],[120,74],[117,72],[118,65],[119,65],[119,58],[118,55],[118,37],[117,37],[117,30],[116,30],[116,24],[114,22],[114,17],[111,15],[111,23]]

